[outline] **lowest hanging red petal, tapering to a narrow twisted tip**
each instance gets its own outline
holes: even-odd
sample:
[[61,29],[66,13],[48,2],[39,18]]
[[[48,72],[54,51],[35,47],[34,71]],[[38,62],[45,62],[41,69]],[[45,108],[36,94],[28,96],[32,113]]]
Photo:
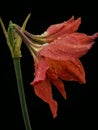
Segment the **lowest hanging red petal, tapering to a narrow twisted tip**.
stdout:
[[53,118],[55,118],[57,116],[57,102],[52,98],[50,81],[46,78],[43,81],[32,83],[32,85],[36,95],[49,104]]

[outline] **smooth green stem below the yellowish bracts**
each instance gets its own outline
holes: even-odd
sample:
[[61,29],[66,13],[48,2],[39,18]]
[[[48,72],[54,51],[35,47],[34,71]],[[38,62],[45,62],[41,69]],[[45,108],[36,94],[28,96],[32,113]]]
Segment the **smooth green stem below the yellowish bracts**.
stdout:
[[22,115],[25,123],[25,128],[26,130],[32,130],[30,125],[27,105],[26,105],[25,92],[23,87],[23,80],[22,80],[22,73],[21,73],[21,66],[20,66],[20,58],[13,58],[13,63],[15,68],[19,99],[20,99]]

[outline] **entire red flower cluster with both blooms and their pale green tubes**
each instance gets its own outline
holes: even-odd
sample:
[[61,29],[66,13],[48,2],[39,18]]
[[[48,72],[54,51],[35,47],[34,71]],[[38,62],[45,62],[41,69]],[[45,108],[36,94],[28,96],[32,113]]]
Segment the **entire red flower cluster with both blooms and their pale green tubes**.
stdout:
[[85,55],[94,44],[98,33],[88,36],[78,32],[81,18],[74,17],[60,24],[51,25],[45,33],[33,35],[22,33],[16,26],[17,33],[29,48],[35,63],[34,80],[31,85],[35,94],[48,103],[55,118],[57,102],[52,95],[51,83],[66,99],[63,80],[86,83],[85,70],[80,57]]

